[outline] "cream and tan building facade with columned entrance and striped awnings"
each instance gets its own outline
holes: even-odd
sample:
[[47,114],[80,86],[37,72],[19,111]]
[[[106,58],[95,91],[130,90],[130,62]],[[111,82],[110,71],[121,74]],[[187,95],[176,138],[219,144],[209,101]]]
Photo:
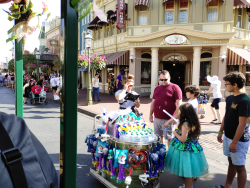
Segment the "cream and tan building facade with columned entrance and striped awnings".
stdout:
[[[116,0],[97,5],[116,13]],[[107,92],[107,76],[128,70],[135,75],[135,91],[152,97],[159,70],[168,70],[181,89],[208,89],[207,75],[222,81],[230,71],[243,72],[250,94],[250,4],[241,0],[126,0],[126,28],[118,30],[116,15],[101,24],[93,15],[93,52],[109,58],[102,70],[100,90]],[[112,19],[114,18],[114,19]],[[118,53],[128,53],[114,61]],[[113,55],[112,55],[113,54]],[[113,58],[112,58],[113,57]],[[125,61],[125,62],[124,62]],[[126,71],[125,71],[126,73]]]

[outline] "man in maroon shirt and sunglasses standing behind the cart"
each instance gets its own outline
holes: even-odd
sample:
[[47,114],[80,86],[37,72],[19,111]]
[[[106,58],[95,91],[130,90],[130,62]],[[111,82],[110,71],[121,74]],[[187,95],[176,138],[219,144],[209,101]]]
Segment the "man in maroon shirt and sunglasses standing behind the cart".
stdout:
[[[173,125],[169,125],[168,131],[162,131],[165,129],[164,124],[170,119],[170,117],[163,112],[165,109],[171,115],[175,115],[175,112],[179,111],[179,107],[182,103],[182,91],[176,84],[170,82],[170,74],[168,71],[163,70],[160,75],[161,85],[157,86],[154,90],[153,100],[150,105],[149,121],[154,122],[154,132],[156,135],[161,136],[163,143],[164,137],[168,140],[168,146],[173,138]],[[153,113],[155,118],[153,119]]]

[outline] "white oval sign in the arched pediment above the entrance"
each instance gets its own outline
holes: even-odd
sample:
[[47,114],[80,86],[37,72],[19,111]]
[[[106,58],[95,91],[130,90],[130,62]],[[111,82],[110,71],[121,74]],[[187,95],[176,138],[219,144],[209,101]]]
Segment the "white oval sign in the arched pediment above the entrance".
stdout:
[[184,35],[169,35],[162,42],[161,45],[189,45],[191,42]]

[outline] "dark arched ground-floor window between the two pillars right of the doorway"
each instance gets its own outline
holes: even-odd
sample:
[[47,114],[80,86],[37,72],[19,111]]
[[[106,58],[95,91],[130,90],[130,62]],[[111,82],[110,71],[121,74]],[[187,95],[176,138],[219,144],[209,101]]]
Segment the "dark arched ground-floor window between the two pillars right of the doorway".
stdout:
[[203,61],[200,64],[200,86],[209,86],[207,76],[211,75],[211,61]]

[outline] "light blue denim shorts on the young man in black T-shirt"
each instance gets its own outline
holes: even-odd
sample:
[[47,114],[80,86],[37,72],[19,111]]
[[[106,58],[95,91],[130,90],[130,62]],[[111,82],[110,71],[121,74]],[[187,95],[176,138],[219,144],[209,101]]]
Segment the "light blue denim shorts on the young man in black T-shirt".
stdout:
[[229,146],[232,143],[233,140],[230,138],[227,138],[224,135],[223,138],[223,153],[227,157],[231,157],[232,163],[236,166],[242,166],[246,164],[246,155],[249,147],[249,141],[248,142],[241,142],[238,141],[237,144],[237,152],[232,153],[229,151]]

